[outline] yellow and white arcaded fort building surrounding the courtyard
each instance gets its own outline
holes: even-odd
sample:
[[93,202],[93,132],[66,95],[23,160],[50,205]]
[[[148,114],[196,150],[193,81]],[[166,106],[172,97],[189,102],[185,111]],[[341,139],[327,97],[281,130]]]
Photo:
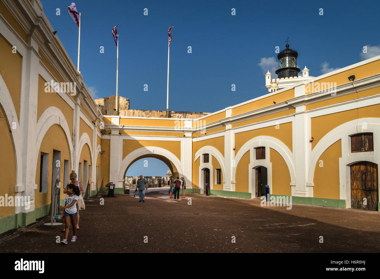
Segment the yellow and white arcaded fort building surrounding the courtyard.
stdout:
[[[120,117],[101,115],[40,1],[0,1],[0,30],[0,233],[46,216],[57,171],[122,193],[148,157],[192,193],[251,199],[268,185],[293,203],[378,210],[380,56],[198,119]],[[17,196],[30,203],[5,199]]]

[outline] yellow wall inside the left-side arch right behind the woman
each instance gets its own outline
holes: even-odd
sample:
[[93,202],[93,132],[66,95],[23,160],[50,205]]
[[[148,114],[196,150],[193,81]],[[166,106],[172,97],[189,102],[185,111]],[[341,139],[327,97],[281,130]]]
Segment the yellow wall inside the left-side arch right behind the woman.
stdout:
[[[71,140],[71,139],[69,139]],[[60,177],[63,184],[64,179],[64,162],[69,161],[69,170],[71,172],[73,166],[71,166],[70,161],[70,151],[65,136],[65,132],[62,127],[54,124],[46,132],[40,146],[40,151],[38,152],[38,161],[36,166],[36,179],[37,189],[35,190],[35,207],[40,207],[51,203],[51,188],[52,188],[52,169],[53,169],[53,149],[61,151],[61,162],[60,162]],[[41,152],[49,154],[48,172],[47,172],[47,192],[40,193],[40,166],[41,166]],[[65,195],[63,191],[60,193],[60,199],[64,199]]]

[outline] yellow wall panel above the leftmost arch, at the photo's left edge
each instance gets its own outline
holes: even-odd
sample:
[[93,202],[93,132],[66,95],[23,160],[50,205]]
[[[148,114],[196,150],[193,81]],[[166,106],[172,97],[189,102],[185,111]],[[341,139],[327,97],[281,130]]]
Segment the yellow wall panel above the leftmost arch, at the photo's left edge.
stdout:
[[[1,2],[0,2],[1,3]],[[3,5],[1,3],[1,5]],[[0,5],[0,11],[1,11]],[[1,11],[2,14],[2,11]],[[9,94],[11,95],[17,119],[20,120],[20,88],[22,56],[12,53],[12,45],[0,35],[0,75],[2,76]]]

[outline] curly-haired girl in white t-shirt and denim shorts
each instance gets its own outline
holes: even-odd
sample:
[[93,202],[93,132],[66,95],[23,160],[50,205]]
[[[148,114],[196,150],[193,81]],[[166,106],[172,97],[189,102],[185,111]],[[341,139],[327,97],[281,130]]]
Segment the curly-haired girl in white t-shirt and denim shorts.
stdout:
[[65,239],[61,241],[62,244],[67,244],[67,238],[69,236],[69,227],[70,227],[70,219],[71,225],[73,226],[73,238],[71,238],[71,242],[76,241],[76,219],[78,213],[76,212],[76,202],[78,201],[78,195],[81,193],[79,187],[74,184],[68,184],[66,186],[66,197],[65,197],[65,206],[59,206],[59,209],[63,209],[65,213]]

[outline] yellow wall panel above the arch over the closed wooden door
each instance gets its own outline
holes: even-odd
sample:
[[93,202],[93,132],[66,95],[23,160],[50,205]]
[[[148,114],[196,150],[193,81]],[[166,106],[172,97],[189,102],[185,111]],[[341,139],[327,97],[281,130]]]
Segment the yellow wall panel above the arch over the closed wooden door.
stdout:
[[312,149],[329,131],[336,128],[343,123],[365,117],[380,117],[380,104],[368,107],[361,107],[359,109],[351,109],[343,112],[322,115],[311,118],[311,136],[313,142],[311,143]]

